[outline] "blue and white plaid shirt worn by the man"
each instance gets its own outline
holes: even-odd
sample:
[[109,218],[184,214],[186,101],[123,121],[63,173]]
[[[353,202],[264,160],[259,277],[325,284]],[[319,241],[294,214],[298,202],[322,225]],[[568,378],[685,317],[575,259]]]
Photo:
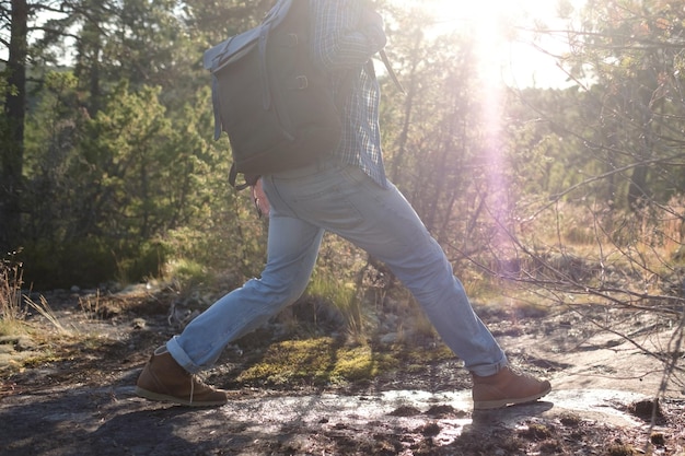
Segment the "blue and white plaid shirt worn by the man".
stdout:
[[371,60],[385,46],[382,24],[368,23],[363,0],[311,0],[310,9],[314,59],[330,74],[336,100],[341,90],[349,92],[335,156],[386,187],[379,126],[381,93]]

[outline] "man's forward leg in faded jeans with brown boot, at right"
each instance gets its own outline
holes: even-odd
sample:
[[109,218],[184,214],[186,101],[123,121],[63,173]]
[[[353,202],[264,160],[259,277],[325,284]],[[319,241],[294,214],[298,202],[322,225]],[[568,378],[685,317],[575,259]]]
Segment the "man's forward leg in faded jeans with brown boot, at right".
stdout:
[[266,184],[269,199],[282,198],[292,217],[321,224],[392,269],[474,374],[477,408],[534,400],[548,393],[548,383],[511,373],[444,252],[394,186],[381,188],[359,168],[344,165],[312,175],[299,173],[292,179],[276,176]]

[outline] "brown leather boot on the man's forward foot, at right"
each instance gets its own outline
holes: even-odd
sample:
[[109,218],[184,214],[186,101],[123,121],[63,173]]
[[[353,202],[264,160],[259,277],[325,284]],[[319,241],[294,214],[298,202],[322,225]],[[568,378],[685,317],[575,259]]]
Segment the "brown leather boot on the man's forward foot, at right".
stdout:
[[503,367],[495,375],[481,377],[473,374],[474,409],[498,409],[514,404],[533,402],[552,390],[547,381]]

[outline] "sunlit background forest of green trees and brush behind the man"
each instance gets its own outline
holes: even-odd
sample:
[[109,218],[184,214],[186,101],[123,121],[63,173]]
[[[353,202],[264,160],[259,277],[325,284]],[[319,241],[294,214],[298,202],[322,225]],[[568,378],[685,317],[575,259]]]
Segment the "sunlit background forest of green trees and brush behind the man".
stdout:
[[[21,262],[34,290],[150,278],[197,285],[216,273],[237,284],[259,273],[266,222],[228,184],[229,143],[212,140],[201,58],[271,3],[0,1],[7,271]],[[468,28],[429,33],[436,19],[419,3],[379,2],[407,92],[381,73],[385,160],[467,291],[663,314],[678,329],[662,361],[675,365],[685,316],[682,2],[561,1],[561,28],[494,16],[512,40],[567,44],[553,56],[567,84],[545,89],[488,83]],[[334,238],[315,274],[357,284],[358,295],[394,283]]]

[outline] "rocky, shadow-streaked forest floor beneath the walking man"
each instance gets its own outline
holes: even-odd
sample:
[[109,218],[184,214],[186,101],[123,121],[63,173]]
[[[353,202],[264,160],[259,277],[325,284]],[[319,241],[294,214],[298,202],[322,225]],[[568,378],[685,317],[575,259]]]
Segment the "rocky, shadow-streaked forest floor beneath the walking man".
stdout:
[[30,331],[0,340],[4,456],[685,455],[683,374],[663,390],[658,360],[673,327],[648,312],[478,307],[512,363],[554,388],[537,402],[481,412],[472,411],[457,360],[407,355],[444,352],[428,336],[370,341],[379,359],[399,362],[355,381],[241,377],[292,337],[279,328],[297,325],[277,321],[207,373],[231,390],[229,404],[196,409],[133,394],[151,351],[177,331],[170,296],[140,288],[102,297],[97,308],[84,308],[83,293],[48,302],[57,336],[33,315]]

